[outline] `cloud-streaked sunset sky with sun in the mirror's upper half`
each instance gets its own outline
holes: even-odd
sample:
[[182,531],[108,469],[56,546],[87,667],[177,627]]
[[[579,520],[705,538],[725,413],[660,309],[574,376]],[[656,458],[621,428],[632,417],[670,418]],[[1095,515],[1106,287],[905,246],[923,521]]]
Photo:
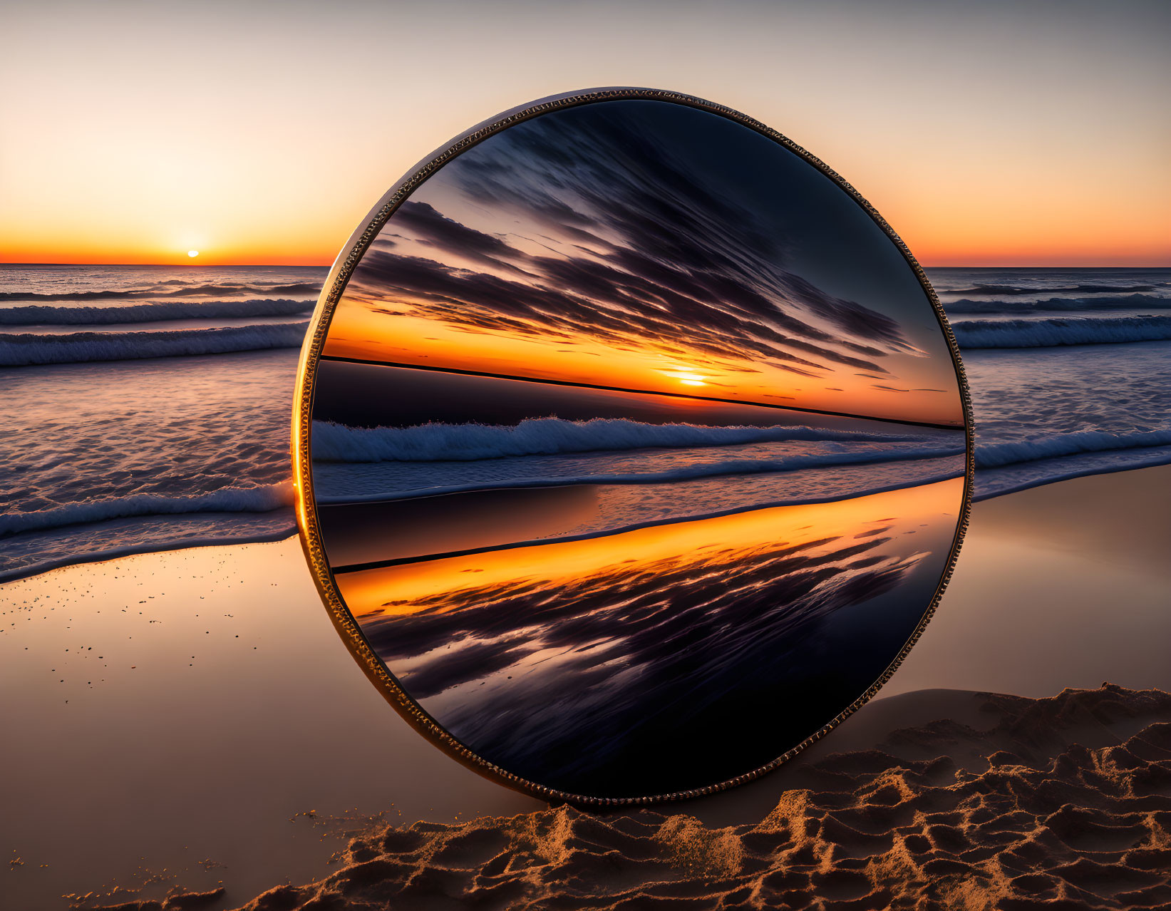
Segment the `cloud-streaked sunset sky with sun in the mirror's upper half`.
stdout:
[[363,256],[323,355],[963,423],[874,221],[760,133],[652,101],[545,114],[445,165]]

